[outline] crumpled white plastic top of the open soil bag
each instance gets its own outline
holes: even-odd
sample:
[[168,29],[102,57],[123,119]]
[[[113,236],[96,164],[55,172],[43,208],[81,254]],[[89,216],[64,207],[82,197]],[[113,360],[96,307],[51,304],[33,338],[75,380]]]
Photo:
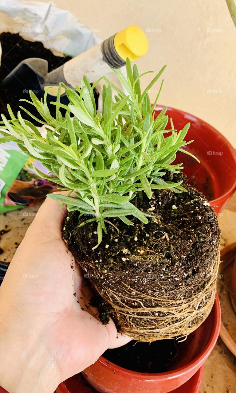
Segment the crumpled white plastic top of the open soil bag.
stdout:
[[72,57],[101,42],[72,13],[50,3],[1,0],[0,32],[19,33],[26,40],[41,41],[45,48]]

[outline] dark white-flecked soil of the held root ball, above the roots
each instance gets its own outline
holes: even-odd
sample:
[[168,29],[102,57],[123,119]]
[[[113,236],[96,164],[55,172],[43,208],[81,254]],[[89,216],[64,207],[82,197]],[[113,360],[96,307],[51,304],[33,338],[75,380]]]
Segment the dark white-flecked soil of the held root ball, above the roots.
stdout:
[[[113,225],[106,224],[107,235],[95,250],[97,224],[79,227],[77,211],[66,215],[63,238],[92,285],[102,291],[112,288],[118,297],[126,296],[124,287],[120,292],[122,282],[147,296],[155,292],[156,298],[162,298],[163,291],[168,294],[173,290],[176,298],[191,298],[205,288],[212,261],[218,255],[220,230],[205,196],[190,185],[185,187],[187,192],[181,194],[157,190],[151,200],[136,195],[133,203],[153,218],[148,224],[132,219],[133,226],[118,218],[110,219]],[[83,216],[79,224],[86,219]],[[113,295],[112,302],[116,304]],[[100,319],[107,323],[108,313],[101,305]],[[138,307],[128,290],[125,305]],[[153,307],[148,297],[143,305]],[[115,323],[119,328],[118,321]]]

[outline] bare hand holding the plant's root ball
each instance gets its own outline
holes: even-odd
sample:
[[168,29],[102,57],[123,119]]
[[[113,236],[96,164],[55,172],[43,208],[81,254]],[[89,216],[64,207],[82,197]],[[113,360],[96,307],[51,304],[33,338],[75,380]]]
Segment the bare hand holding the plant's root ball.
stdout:
[[130,340],[89,307],[91,289],[61,237],[65,213],[44,202],[0,287],[0,386],[9,393],[52,393]]

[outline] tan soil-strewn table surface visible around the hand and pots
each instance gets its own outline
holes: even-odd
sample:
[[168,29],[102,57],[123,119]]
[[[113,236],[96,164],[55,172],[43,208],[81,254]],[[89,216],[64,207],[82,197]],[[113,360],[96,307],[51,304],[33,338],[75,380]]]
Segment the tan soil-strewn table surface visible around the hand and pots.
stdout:
[[[5,226],[7,226],[6,230],[10,229],[0,239],[0,247],[3,250],[0,255],[2,261],[11,261],[38,208],[39,204],[0,215],[0,230],[5,229]],[[221,227],[221,248],[236,242],[236,212],[225,209],[219,217],[219,224]],[[200,393],[236,393],[236,358],[220,338],[205,362]]]

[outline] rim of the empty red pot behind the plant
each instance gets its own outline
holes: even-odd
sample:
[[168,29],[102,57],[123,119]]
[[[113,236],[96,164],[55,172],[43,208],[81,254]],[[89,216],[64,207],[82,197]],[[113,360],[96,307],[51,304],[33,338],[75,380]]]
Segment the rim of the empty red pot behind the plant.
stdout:
[[[158,105],[157,104],[155,106],[154,110],[155,111],[156,110],[161,110],[163,108],[165,108],[164,105]],[[192,114],[190,114],[188,112],[185,112],[184,110],[177,109],[177,108],[172,108],[172,107],[167,107],[167,108],[170,109],[170,110],[181,112],[182,114],[190,116],[190,118],[194,118],[195,120],[203,123],[203,125],[206,124],[207,127],[210,127],[212,129],[212,131],[214,131],[215,134],[219,135],[220,138],[223,139],[223,141],[224,141],[223,145],[226,145],[227,148],[229,149],[230,153],[232,154],[232,157],[234,158],[234,162],[235,162],[235,168],[236,168],[236,150],[231,145],[231,143],[227,140],[227,138],[225,138],[225,136],[223,134],[221,134],[221,132],[219,132],[216,128],[212,127],[212,125],[207,123],[205,120],[202,120],[202,119],[198,118],[197,116],[194,116],[194,115],[192,115]],[[210,202],[211,205],[218,205],[218,202],[221,200],[221,198],[224,198],[225,196],[227,196],[227,197],[229,196],[230,197],[234,193],[234,191],[236,191],[236,177],[235,177],[234,184],[232,185],[232,187],[230,187],[230,189],[228,191],[226,191],[225,193],[221,194],[218,198],[210,200],[209,202]]]

